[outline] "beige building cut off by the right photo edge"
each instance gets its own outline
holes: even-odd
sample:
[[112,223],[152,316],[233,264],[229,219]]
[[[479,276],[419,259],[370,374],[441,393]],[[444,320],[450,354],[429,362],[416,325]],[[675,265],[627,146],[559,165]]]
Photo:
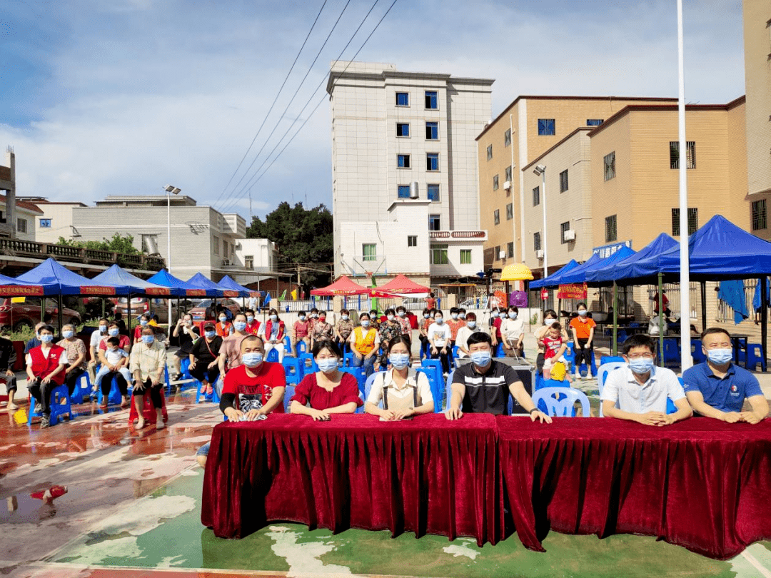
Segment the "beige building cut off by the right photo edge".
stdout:
[[752,233],[771,240],[771,2],[744,0],[744,76],[747,95],[747,193]]

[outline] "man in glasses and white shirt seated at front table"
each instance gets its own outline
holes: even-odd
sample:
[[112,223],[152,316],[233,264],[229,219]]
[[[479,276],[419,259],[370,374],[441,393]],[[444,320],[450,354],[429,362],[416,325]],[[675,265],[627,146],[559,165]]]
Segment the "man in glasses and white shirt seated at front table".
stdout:
[[[632,335],[621,345],[621,354],[629,365],[611,371],[605,378],[600,398],[606,417],[671,425],[693,415],[675,372],[653,365],[655,351],[654,341],[644,334]],[[667,414],[667,398],[675,403],[677,412]]]

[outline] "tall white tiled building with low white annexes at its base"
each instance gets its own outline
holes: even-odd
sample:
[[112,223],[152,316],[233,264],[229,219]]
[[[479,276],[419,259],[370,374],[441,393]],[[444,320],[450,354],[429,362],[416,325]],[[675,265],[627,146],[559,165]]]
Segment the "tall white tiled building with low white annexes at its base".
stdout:
[[333,62],[335,277],[469,277],[483,267],[475,138],[493,80]]

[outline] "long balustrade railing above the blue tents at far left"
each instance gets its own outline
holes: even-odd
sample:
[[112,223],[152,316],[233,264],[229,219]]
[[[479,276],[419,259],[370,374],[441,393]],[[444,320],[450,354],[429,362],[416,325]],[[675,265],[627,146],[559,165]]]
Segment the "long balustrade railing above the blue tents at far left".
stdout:
[[84,249],[82,247],[69,247],[69,245],[56,245],[52,243],[35,243],[35,241],[20,239],[0,238],[0,255],[37,257],[41,260],[45,260],[48,257],[56,257],[83,264],[107,266],[117,263],[121,267],[143,269],[145,271],[160,271],[165,267],[161,257],[152,255],[113,253],[112,251]]

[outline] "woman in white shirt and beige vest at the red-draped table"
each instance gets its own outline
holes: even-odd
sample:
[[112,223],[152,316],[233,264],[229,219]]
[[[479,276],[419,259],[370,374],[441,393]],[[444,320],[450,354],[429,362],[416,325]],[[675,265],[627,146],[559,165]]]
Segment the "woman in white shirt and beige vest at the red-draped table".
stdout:
[[[365,412],[379,415],[386,422],[433,412],[429,378],[425,373],[417,373],[409,367],[411,348],[412,342],[404,335],[389,342],[387,353],[392,370],[375,377],[364,405]],[[382,409],[378,407],[380,402]]]

